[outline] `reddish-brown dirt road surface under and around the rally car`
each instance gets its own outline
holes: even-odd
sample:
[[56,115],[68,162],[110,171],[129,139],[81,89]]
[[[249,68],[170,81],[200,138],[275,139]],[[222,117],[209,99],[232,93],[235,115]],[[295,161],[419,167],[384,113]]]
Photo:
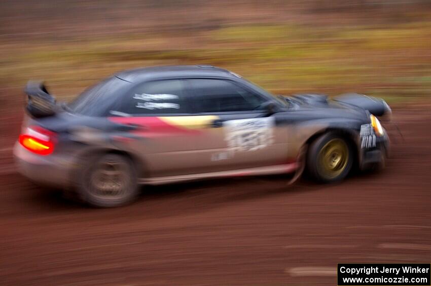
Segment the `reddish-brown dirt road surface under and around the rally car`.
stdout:
[[151,187],[117,209],[83,207],[8,171],[19,119],[2,118],[0,284],[336,285],[337,263],[429,263],[431,112],[394,114],[405,142],[393,133],[382,173],[339,185]]

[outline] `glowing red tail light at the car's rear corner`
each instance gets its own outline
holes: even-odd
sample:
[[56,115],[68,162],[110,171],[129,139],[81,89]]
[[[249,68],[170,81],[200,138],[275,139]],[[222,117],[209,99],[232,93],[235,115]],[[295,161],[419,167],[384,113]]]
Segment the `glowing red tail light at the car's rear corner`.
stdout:
[[49,155],[54,151],[54,135],[39,126],[31,126],[19,136],[19,143],[35,154]]

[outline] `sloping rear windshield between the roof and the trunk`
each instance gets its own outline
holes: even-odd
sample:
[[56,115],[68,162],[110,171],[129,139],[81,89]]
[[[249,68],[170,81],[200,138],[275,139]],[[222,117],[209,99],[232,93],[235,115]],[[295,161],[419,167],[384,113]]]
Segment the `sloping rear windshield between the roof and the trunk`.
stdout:
[[70,102],[67,107],[71,112],[89,116],[102,116],[118,101],[118,94],[125,92],[130,85],[116,76],[107,78],[86,89],[80,96]]

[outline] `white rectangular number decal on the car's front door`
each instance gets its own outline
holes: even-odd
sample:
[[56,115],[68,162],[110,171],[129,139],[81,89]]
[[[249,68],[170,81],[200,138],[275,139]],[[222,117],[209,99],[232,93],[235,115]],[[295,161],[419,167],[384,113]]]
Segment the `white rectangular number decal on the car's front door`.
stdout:
[[223,127],[232,152],[256,151],[273,142],[274,117],[227,120]]

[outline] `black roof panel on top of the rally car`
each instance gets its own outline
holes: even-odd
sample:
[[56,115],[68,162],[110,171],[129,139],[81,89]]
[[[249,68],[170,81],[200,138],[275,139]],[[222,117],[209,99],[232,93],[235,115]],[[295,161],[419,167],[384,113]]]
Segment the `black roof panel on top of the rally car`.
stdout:
[[213,67],[211,65],[173,65],[173,66],[153,66],[126,70],[117,73],[115,76],[131,83],[138,83],[144,80],[154,80],[167,77],[235,77],[229,70]]

